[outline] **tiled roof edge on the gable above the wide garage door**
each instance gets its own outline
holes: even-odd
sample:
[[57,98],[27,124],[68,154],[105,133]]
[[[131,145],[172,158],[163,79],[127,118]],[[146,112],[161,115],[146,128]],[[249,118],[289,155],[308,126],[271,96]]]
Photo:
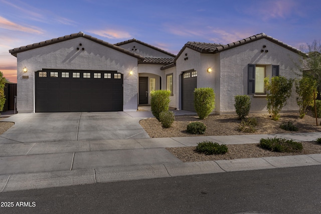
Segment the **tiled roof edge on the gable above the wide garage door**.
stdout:
[[44,46],[47,46],[47,45],[52,45],[52,44],[55,44],[55,43],[59,43],[59,42],[63,42],[63,41],[71,40],[71,39],[75,39],[75,38],[78,38],[78,37],[84,37],[84,38],[86,38],[88,40],[91,40],[91,41],[96,42],[98,44],[101,44],[103,46],[112,48],[114,50],[123,52],[123,53],[125,53],[127,55],[130,55],[132,57],[135,57],[135,58],[137,58],[137,59],[139,59],[141,61],[144,59],[144,57],[142,57],[142,56],[140,56],[138,54],[132,53],[132,52],[130,52],[128,50],[125,50],[123,48],[120,48],[120,47],[118,47],[116,45],[104,42],[103,40],[99,40],[99,39],[97,39],[95,37],[92,37],[92,36],[89,36],[89,35],[85,35],[83,32],[79,32],[79,33],[76,33],[76,34],[70,34],[70,35],[66,35],[66,36],[63,36],[63,37],[54,38],[54,39],[51,39],[51,40],[47,40],[47,41],[43,41],[43,42],[39,42],[39,43],[27,45],[27,46],[22,46],[20,48],[11,49],[11,50],[9,50],[9,53],[11,53],[13,56],[17,57],[17,54],[20,53],[20,52],[29,51],[31,49],[36,49],[36,48],[44,47]]

